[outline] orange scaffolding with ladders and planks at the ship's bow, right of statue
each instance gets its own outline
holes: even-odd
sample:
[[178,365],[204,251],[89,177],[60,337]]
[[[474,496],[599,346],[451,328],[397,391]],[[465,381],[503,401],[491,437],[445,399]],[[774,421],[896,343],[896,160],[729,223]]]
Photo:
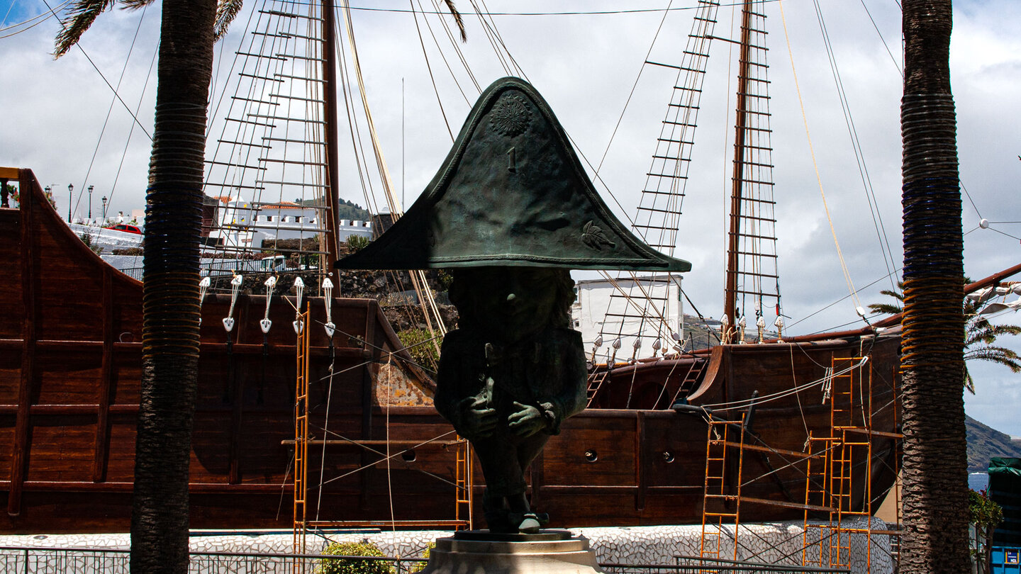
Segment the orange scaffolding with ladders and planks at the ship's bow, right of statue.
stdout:
[[[794,508],[805,513],[801,534],[801,564],[819,567],[849,567],[850,538],[853,534],[863,534],[869,540],[866,544],[866,572],[872,568],[871,536],[889,534],[896,536],[900,530],[874,529],[872,514],[874,509],[872,480],[873,441],[877,438],[900,440],[900,433],[873,430],[875,414],[872,404],[873,373],[871,363],[861,356],[831,358],[828,386],[830,420],[824,436],[809,433],[808,451],[796,452],[771,448],[768,445],[745,443],[745,417],[740,421],[714,419],[708,415],[708,437],[706,441],[706,481],[702,503],[701,540],[699,556],[722,558],[725,552],[723,539],[732,527],[733,553],[737,560],[737,534],[740,527],[742,504],[761,504]],[[893,420],[897,419],[896,393],[894,386]],[[742,485],[752,482],[743,480],[744,451],[782,453],[784,457],[804,460],[806,467],[805,504],[772,500],[743,496]],[[737,456],[736,465],[733,457]],[[894,453],[894,461],[897,457]],[[853,461],[866,461],[864,472],[854,469]],[[894,463],[896,465],[896,463]],[[896,468],[891,469],[894,474]],[[864,479],[864,485],[862,480]],[[861,506],[854,504],[855,495],[861,494]],[[896,496],[894,489],[894,496]],[[897,505],[900,511],[900,505]],[[810,515],[823,514],[821,522],[810,521]],[[856,517],[865,518],[865,527],[850,527],[844,521]],[[897,520],[900,523],[900,520]],[[814,535],[815,534],[815,535]]]

